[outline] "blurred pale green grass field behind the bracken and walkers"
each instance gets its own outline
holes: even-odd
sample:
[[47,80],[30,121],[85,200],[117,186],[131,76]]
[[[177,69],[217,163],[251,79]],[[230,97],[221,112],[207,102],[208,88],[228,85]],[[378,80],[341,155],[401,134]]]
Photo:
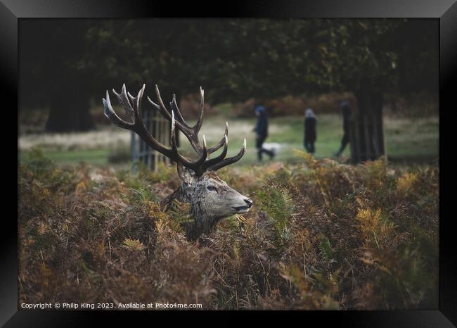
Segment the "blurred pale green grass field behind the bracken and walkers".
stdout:
[[[252,127],[255,119],[226,118],[222,115],[206,118],[200,134],[205,134],[207,144],[219,141],[228,120],[228,156],[238,152],[247,139],[247,151],[238,165],[257,163],[255,134]],[[439,157],[439,118],[384,118],[387,156],[393,160],[423,161]],[[320,115],[317,125],[316,158],[333,157],[342,137],[341,117],[335,114]],[[128,154],[129,132],[114,125],[102,126],[95,132],[71,134],[26,134],[20,137],[19,160],[27,158],[34,146],[42,148],[44,156],[60,165],[75,165],[81,161],[89,165],[107,165],[110,153],[121,149]],[[292,149],[303,149],[303,121],[301,117],[271,118],[269,137],[266,142],[281,144],[276,160],[293,160]],[[191,146],[181,136],[181,151],[193,156]],[[349,156],[349,146],[345,150]],[[127,155],[126,155],[127,156]],[[128,158],[128,156],[127,156]],[[115,167],[127,168],[129,163]]]

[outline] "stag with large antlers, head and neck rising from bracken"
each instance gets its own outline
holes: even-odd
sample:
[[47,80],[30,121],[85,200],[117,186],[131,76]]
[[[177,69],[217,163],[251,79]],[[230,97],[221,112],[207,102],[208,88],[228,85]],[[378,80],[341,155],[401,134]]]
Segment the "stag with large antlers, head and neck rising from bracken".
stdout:
[[[191,127],[186,123],[179,111],[176,104],[176,96],[173,95],[170,102],[171,109],[169,110],[162,101],[157,85],[155,85],[158,104],[151,101],[149,97],[147,99],[153,105],[153,108],[171,123],[171,147],[161,144],[151,136],[143,124],[141,106],[145,88],[146,84],[143,84],[143,87],[136,96],[132,96],[126,91],[125,84],[122,85],[120,94],[112,89],[113,94],[119,99],[124,111],[129,115],[131,122],[122,120],[113,111],[108,91],[106,92],[106,99],[103,99],[105,116],[118,127],[136,132],[152,149],[155,149],[155,151],[162,153],[177,163],[181,187],[165,198],[162,206],[167,209],[174,203],[174,200],[190,204],[190,215],[193,217],[193,222],[190,225],[186,225],[185,228],[188,239],[195,241],[202,234],[212,232],[220,220],[234,214],[246,213],[252,207],[250,198],[243,196],[235,189],[229,187],[226,182],[219,178],[216,172],[220,168],[233,164],[243,157],[246,151],[246,139],[236,156],[226,158],[228,148],[228,123],[226,123],[224,137],[222,137],[216,146],[207,148],[205,135],[203,135],[202,144],[200,144],[198,133],[202,127],[203,120],[203,89],[200,87],[200,113],[197,122]],[[176,127],[191,143],[192,148],[198,155],[197,159],[192,160],[179,153],[176,146]],[[221,147],[224,147],[224,149],[222,149],[219,156],[210,158],[210,155],[221,149]]]

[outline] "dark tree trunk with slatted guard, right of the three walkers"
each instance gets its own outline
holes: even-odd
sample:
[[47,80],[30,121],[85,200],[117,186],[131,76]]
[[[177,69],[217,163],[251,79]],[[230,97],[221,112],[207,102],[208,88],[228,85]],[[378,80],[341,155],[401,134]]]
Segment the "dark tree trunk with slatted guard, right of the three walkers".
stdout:
[[354,92],[359,111],[352,114],[351,158],[354,163],[385,155],[381,92],[368,89]]

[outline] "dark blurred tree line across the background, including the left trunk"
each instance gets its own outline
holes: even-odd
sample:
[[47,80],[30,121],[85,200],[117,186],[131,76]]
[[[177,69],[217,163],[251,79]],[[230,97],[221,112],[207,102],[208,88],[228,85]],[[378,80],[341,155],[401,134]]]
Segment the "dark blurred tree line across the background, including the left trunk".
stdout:
[[46,130],[90,130],[91,99],[122,83],[213,104],[353,92],[380,115],[386,92],[439,89],[439,22],[422,19],[22,20],[20,106]]

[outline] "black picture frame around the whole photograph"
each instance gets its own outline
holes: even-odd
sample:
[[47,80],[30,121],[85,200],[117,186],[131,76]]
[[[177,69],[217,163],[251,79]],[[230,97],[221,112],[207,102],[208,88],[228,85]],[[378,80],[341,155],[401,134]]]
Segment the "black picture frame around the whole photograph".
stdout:
[[[12,118],[2,121],[14,121],[11,109],[6,109],[6,99],[12,100],[12,106],[18,106],[18,23],[22,18],[148,18],[148,17],[203,17],[204,2],[184,2],[165,4],[162,1],[99,0],[2,0],[0,3],[0,76],[3,105],[2,114]],[[449,123],[449,115],[456,106],[453,94],[456,90],[457,76],[457,4],[454,0],[321,0],[321,1],[230,1],[214,4],[207,17],[245,17],[245,18],[435,18],[440,24],[440,153],[444,148],[444,130]],[[17,107],[19,108],[19,107]],[[443,119],[446,118],[446,119]],[[17,116],[16,116],[17,119]],[[448,122],[446,122],[446,120]],[[2,129],[4,140],[10,140],[11,132]],[[11,141],[12,144],[12,141]],[[17,146],[17,144],[16,144]],[[17,151],[17,149],[16,149]],[[448,151],[450,153],[451,151]],[[11,147],[13,153],[13,147]],[[447,156],[449,157],[449,156]],[[5,162],[6,160],[4,160]],[[11,169],[17,172],[17,165]],[[457,324],[457,279],[456,255],[453,251],[453,229],[451,220],[444,220],[444,198],[451,197],[444,192],[444,184],[451,184],[449,176],[452,170],[445,170],[443,177],[443,159],[440,160],[440,248],[439,248],[439,310],[412,311],[302,311],[261,313],[268,319],[272,314],[283,319],[298,319],[300,322],[319,320],[349,327],[453,327]],[[11,175],[11,179],[15,179]],[[14,182],[12,181],[14,185]],[[6,186],[5,186],[6,189]],[[13,189],[14,190],[14,189]],[[15,189],[17,191],[17,189]],[[16,193],[17,195],[17,193]],[[4,207],[12,206],[14,193],[11,188],[4,196]],[[11,198],[11,199],[10,199]],[[16,200],[17,201],[17,200]],[[6,212],[5,212],[6,213]],[[17,216],[16,216],[17,218]],[[13,215],[3,215],[1,256],[0,256],[0,324],[5,327],[59,327],[81,326],[90,324],[94,317],[102,314],[98,311],[63,311],[63,310],[18,310],[18,238],[17,220]],[[109,317],[118,320],[120,311],[110,313]],[[124,311],[122,311],[125,313]],[[144,319],[145,315],[163,316],[173,319],[176,313],[135,313]],[[214,314],[214,313],[212,313]],[[257,313],[258,314],[258,313]],[[207,314],[205,314],[207,315]],[[228,320],[237,322],[245,313],[233,313]],[[295,318],[294,318],[295,317]],[[150,320],[150,319],[148,319]],[[195,320],[197,320],[195,318]],[[306,321],[305,321],[306,320]],[[228,323],[228,321],[226,321]],[[119,324],[119,322],[118,322]]]

